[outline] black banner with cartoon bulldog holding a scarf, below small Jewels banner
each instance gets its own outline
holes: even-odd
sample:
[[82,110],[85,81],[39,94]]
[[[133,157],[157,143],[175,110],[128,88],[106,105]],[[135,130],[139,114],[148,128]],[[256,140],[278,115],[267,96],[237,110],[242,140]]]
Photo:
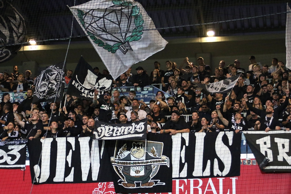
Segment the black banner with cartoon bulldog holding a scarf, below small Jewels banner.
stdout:
[[171,136],[148,133],[147,141],[116,141],[115,193],[172,192]]

